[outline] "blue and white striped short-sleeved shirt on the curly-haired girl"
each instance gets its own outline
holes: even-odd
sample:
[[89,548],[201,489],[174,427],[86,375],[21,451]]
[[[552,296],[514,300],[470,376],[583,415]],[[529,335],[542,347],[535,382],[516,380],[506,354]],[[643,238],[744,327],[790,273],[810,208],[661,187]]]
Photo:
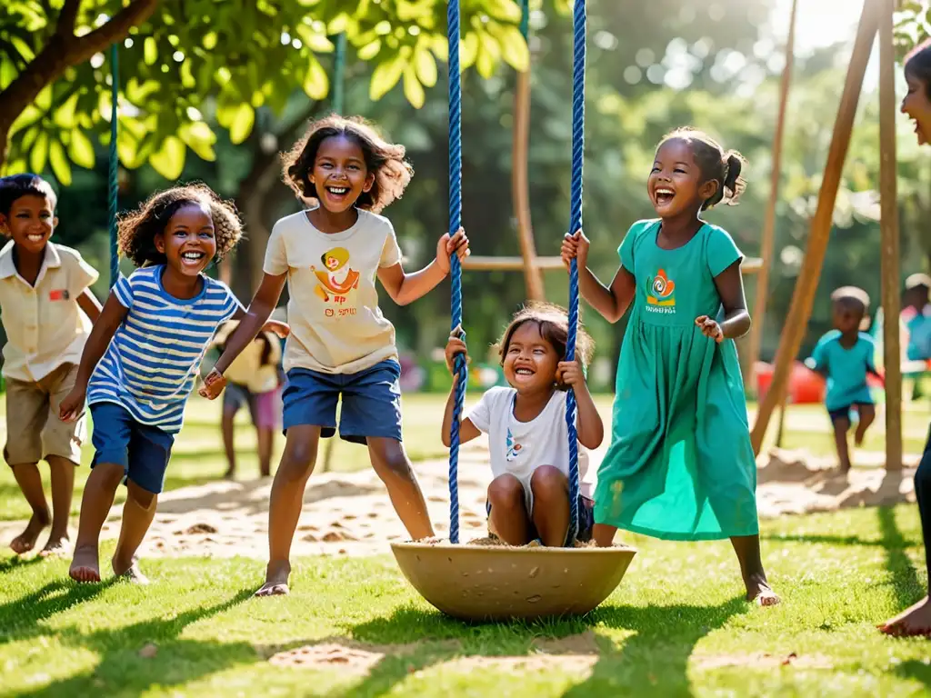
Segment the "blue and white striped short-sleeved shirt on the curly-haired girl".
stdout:
[[240,305],[208,276],[194,298],[175,298],[162,288],[164,269],[144,267],[116,282],[116,300],[129,312],[90,377],[88,405],[114,402],[140,423],[177,434],[210,338]]

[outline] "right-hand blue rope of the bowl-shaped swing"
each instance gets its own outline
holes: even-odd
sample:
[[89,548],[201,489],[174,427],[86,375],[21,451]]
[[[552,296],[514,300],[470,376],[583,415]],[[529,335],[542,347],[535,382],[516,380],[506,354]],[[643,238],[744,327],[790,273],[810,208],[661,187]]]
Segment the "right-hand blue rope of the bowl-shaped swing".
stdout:
[[[573,172],[570,190],[569,235],[582,227],[582,167],[585,161],[585,0],[573,5]],[[575,339],[579,322],[579,270],[575,260],[569,271],[569,338],[566,360],[575,360]],[[572,545],[579,525],[579,447],[575,430],[575,394],[566,393],[566,426],[569,430],[569,531],[566,544]]]

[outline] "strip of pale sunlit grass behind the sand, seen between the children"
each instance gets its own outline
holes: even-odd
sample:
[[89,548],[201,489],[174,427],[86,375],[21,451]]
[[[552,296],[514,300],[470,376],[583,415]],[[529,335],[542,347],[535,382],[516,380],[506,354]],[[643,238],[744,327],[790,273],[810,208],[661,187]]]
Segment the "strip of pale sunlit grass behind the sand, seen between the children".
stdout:
[[[477,399],[473,392],[467,399],[466,405]],[[437,395],[410,395],[404,397],[404,446],[413,461],[445,458],[447,450],[439,438],[439,421],[442,415],[445,396]],[[596,396],[605,425],[610,428],[612,396]],[[752,409],[753,406],[751,406]],[[172,451],[171,464],[166,479],[166,489],[176,490],[187,485],[203,484],[209,480],[223,476],[226,470],[225,456],[223,455],[223,440],[220,436],[220,409],[219,402],[208,402],[193,397],[187,407],[184,428],[178,436],[175,448]],[[4,407],[0,401],[0,416],[4,414]],[[927,433],[927,423],[931,419],[931,412],[924,403],[910,406],[903,414],[904,447],[907,453],[921,453],[924,449],[924,438]],[[769,442],[776,436],[776,420],[769,430]],[[3,420],[0,419],[0,437],[6,439]],[[331,469],[338,472],[352,472],[369,467],[368,450],[355,444],[349,444],[339,439],[332,442]],[[833,436],[830,434],[830,421],[824,409],[817,405],[803,405],[789,408],[789,417],[785,432],[783,446],[788,449],[806,449],[813,454],[827,456],[834,452]],[[276,452],[273,458],[273,468],[281,450],[284,448],[284,437],[278,435],[276,439]],[[884,450],[884,425],[876,423],[867,435],[866,450]],[[258,459],[255,454],[255,431],[252,429],[248,416],[243,410],[237,421],[236,452],[238,476],[251,479],[259,472]],[[320,462],[322,462],[322,453]],[[84,449],[82,463],[87,466],[93,456],[93,449],[88,444]],[[856,453],[854,454],[856,463]],[[317,463],[317,472],[322,467]],[[44,466],[43,466],[44,467]],[[74,502],[72,514],[77,515],[84,483],[89,475],[89,468],[78,469],[75,477]],[[46,476],[47,484],[47,476]],[[116,501],[122,502],[126,490],[117,490]],[[6,467],[0,468],[0,521],[10,521],[28,518],[29,506],[23,500],[20,489],[13,479],[13,475]]]

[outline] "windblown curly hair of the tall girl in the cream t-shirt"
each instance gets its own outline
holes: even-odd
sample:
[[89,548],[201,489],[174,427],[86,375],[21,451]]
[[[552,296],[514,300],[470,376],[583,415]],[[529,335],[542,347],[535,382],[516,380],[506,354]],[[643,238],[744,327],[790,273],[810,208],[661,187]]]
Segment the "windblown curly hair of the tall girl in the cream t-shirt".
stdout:
[[345,118],[331,114],[311,122],[304,138],[281,156],[284,181],[296,195],[312,204],[319,202],[317,187],[310,181],[310,176],[320,143],[336,137],[356,141],[365,157],[366,168],[375,176],[371,189],[359,195],[356,201],[358,208],[378,213],[404,194],[413,176],[411,164],[404,159],[404,146],[385,141],[371,124],[359,116]]

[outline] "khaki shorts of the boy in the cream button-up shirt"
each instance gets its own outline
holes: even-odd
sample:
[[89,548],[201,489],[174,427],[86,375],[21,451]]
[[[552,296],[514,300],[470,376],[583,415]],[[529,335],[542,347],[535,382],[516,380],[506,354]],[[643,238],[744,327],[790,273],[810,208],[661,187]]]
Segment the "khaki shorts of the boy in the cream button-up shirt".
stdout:
[[40,381],[7,379],[7,448],[9,465],[38,463],[61,456],[81,463],[81,444],[88,436],[87,412],[75,422],[59,419],[61,400],[74,388],[75,364],[62,364]]

